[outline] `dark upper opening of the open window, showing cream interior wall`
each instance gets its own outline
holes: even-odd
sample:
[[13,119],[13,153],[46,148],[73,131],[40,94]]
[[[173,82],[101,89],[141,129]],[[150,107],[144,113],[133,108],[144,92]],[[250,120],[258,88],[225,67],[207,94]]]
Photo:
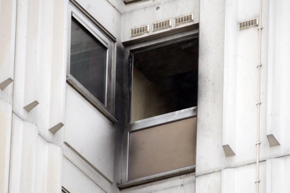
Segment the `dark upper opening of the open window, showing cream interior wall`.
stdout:
[[197,106],[198,37],[133,54],[131,122]]

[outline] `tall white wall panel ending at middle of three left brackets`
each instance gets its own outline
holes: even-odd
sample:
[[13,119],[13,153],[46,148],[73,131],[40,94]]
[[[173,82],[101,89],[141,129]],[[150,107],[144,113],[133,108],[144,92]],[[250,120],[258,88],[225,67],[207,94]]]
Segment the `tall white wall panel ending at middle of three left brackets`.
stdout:
[[[39,4],[38,0],[18,1],[15,45],[14,111],[24,115],[39,103],[37,68],[39,68]],[[21,113],[20,113],[21,112]]]

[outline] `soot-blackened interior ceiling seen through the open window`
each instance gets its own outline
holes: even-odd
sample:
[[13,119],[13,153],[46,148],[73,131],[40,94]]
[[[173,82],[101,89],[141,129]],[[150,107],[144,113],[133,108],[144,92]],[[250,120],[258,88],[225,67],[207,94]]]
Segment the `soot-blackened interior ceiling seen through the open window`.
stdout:
[[137,52],[134,66],[150,81],[198,69],[198,37]]

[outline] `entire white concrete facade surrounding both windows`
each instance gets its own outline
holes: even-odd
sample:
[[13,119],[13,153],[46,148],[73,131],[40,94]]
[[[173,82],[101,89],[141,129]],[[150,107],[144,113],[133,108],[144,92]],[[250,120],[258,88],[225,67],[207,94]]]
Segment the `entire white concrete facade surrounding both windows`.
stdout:
[[[158,42],[199,24],[196,172],[118,190],[127,172],[126,108],[116,108],[114,125],[66,83],[68,1],[0,0],[0,86],[11,79],[0,90],[0,192],[255,192],[258,30],[238,31],[238,22],[259,17],[259,1],[76,2],[116,38],[119,105],[127,84],[122,42]],[[192,23],[174,27],[175,17],[190,13]],[[289,13],[287,0],[263,0],[259,189],[266,193],[290,188]],[[152,23],[166,19],[172,27],[153,33]],[[145,24],[150,33],[130,38],[131,28]],[[267,135],[280,145],[270,147]],[[235,153],[230,169],[221,163],[223,145]]]

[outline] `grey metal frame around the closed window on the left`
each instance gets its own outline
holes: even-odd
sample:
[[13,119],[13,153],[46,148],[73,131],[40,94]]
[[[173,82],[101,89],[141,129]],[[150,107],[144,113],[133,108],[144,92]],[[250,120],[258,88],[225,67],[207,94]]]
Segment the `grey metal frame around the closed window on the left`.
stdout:
[[[68,57],[66,68],[66,81],[74,87],[82,96],[89,100],[99,111],[101,111],[109,120],[116,123],[114,118],[114,95],[115,95],[115,60],[116,52],[115,39],[111,34],[104,31],[101,26],[92,20],[92,16],[84,12],[75,1],[69,2],[68,8]],[[70,37],[71,37],[71,18],[75,18],[85,27],[95,38],[97,38],[107,48],[106,63],[106,88],[105,88],[105,104],[101,103],[92,93],[89,92],[79,81],[70,74]]]

